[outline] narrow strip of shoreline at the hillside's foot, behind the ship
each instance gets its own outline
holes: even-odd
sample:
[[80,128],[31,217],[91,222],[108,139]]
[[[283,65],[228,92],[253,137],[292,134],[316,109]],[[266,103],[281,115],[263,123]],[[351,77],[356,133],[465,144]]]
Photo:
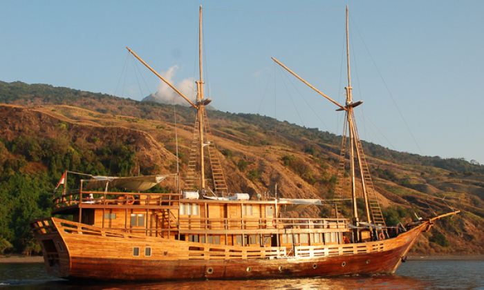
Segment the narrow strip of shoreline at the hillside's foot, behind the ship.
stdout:
[[[409,255],[407,261],[484,261],[484,255]],[[44,257],[41,255],[24,256],[0,256],[0,264],[15,263],[43,263]]]

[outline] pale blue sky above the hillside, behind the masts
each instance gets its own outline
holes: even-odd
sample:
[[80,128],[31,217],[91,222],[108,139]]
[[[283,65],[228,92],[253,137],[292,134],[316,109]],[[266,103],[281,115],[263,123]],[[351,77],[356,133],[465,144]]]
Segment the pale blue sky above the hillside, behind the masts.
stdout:
[[[194,97],[198,11],[212,106],[342,134],[345,7],[360,138],[484,163],[484,1],[0,1],[0,81],[140,100]],[[183,99],[178,99],[183,101]]]

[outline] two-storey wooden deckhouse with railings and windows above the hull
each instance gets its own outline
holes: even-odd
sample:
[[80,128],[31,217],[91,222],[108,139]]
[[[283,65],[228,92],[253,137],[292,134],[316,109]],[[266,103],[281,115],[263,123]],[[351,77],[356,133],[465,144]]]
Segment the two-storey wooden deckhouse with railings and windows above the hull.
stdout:
[[[124,186],[144,189],[140,184],[147,180],[155,184],[162,180],[149,178],[131,177],[136,185]],[[249,200],[247,194],[200,199],[196,192],[91,190],[120,186],[119,180],[88,182],[88,186],[55,197],[53,215],[71,215],[73,222],[103,229],[205,244],[286,247],[291,251],[295,246],[349,242],[344,239],[344,233],[350,233],[348,220],[281,218],[281,211],[294,207],[291,200]]]

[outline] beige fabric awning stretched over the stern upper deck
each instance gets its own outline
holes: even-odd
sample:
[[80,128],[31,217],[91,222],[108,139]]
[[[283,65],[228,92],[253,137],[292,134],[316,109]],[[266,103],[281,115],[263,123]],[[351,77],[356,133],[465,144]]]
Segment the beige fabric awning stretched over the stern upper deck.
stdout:
[[129,191],[146,191],[151,187],[159,184],[168,175],[147,175],[136,177],[110,177],[110,176],[93,176],[87,182],[83,189],[106,189],[107,188],[123,188]]

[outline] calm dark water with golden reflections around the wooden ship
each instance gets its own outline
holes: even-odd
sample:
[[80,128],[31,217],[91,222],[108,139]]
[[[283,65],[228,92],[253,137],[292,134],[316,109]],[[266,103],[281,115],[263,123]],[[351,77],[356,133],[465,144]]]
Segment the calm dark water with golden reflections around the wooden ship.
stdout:
[[102,289],[483,289],[484,261],[408,261],[393,276],[348,276],[250,281],[81,284],[48,276],[44,264],[0,264],[0,290]]

